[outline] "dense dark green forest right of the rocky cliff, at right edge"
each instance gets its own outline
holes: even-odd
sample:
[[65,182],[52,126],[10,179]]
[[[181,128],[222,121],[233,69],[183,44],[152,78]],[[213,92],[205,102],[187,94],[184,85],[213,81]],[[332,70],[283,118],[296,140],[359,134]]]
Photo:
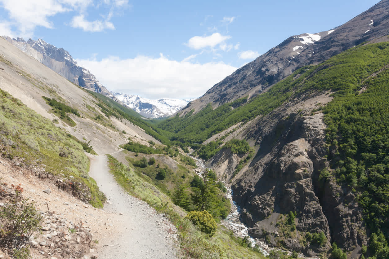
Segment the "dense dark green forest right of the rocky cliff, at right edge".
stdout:
[[364,86],[365,92],[344,94],[326,106],[327,139],[330,158],[338,160],[333,165],[337,181],[357,194],[364,221],[375,232],[371,252],[387,258],[387,241],[374,237],[389,231],[389,71]]

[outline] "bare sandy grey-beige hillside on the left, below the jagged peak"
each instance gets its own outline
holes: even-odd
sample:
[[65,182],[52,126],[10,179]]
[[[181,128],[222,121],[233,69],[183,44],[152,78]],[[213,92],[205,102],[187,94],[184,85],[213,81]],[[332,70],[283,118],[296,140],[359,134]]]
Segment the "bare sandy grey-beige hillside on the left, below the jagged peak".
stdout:
[[[138,141],[153,140],[159,143],[146,134],[143,129],[127,120],[119,121],[110,116],[109,123],[112,123],[116,130],[104,127],[93,120],[96,115],[105,118],[93,96],[1,37],[0,68],[0,88],[20,99],[40,115],[50,120],[58,119],[57,116],[50,113],[51,107],[46,104],[42,96],[63,99],[67,105],[79,110],[84,118],[70,115],[77,124],[75,127],[70,127],[62,121],[56,125],[80,140],[91,140],[91,145],[94,146],[98,154],[104,155],[119,150],[117,146],[126,143],[128,137]],[[123,130],[126,132],[125,134],[121,133]]]

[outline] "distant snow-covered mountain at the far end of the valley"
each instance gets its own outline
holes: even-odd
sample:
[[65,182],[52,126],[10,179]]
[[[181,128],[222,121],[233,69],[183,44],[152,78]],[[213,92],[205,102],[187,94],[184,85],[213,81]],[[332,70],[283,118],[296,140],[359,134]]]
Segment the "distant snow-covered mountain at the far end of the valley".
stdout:
[[123,104],[146,118],[163,118],[173,115],[184,108],[190,100],[158,99],[151,100],[137,95],[114,93],[114,96]]

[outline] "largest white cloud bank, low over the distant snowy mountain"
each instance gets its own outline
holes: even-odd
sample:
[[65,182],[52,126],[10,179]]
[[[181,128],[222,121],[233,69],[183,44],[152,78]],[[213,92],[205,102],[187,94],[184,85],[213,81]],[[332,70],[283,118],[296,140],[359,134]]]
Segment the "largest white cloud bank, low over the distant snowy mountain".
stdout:
[[189,98],[204,94],[237,68],[224,63],[192,64],[187,61],[137,56],[77,60],[97,75],[108,89],[147,98]]

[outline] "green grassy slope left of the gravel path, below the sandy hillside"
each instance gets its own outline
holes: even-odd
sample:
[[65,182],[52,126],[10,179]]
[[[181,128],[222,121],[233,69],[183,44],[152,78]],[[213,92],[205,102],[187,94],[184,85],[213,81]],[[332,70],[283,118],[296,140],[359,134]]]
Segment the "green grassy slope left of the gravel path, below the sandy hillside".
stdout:
[[95,207],[103,206],[105,197],[87,174],[89,159],[81,144],[1,89],[0,148],[3,156],[22,158],[25,166],[44,167],[46,172],[66,177],[74,195]]

